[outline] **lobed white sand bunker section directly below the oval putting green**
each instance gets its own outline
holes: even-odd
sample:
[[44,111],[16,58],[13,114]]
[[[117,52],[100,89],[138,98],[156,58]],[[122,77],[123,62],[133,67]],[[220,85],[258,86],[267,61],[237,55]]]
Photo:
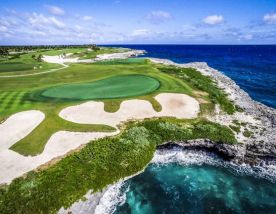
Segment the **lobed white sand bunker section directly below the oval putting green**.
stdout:
[[71,106],[60,112],[60,117],[81,124],[106,124],[117,126],[123,121],[152,117],[194,118],[199,112],[199,103],[185,94],[162,93],[155,97],[161,104],[162,111],[156,112],[151,103],[145,100],[128,100],[122,102],[115,113],[104,111],[103,102],[90,101]]

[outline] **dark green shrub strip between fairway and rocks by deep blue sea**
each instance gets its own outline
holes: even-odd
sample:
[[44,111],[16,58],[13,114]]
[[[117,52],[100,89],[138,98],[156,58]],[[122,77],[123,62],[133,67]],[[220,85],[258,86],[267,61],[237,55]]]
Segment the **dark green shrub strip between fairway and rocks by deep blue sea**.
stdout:
[[164,66],[159,68],[160,71],[177,75],[179,78],[189,82],[194,88],[205,91],[213,103],[221,106],[222,110],[228,114],[235,112],[235,106],[227,99],[226,94],[217,87],[215,82],[207,76],[202,75],[199,71],[192,68],[177,68],[174,66]]

